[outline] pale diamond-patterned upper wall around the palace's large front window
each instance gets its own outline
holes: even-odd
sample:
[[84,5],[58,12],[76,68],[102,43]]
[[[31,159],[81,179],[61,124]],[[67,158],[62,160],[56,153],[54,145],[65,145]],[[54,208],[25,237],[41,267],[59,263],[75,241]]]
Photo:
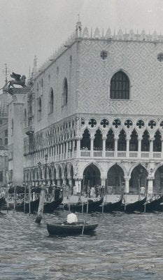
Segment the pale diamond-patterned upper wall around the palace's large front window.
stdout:
[[[78,112],[162,115],[163,68],[157,60],[162,44],[106,41],[108,57],[102,60],[104,43],[97,38],[99,31],[95,33],[94,39],[83,39],[80,44]],[[129,77],[129,100],[110,99],[111,78],[120,70]]]

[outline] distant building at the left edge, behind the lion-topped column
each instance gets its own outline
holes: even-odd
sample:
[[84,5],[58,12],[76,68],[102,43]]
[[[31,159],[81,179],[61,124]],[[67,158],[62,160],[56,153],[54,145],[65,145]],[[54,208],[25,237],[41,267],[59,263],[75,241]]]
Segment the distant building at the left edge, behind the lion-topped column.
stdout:
[[8,171],[8,94],[0,94],[0,186],[6,186]]

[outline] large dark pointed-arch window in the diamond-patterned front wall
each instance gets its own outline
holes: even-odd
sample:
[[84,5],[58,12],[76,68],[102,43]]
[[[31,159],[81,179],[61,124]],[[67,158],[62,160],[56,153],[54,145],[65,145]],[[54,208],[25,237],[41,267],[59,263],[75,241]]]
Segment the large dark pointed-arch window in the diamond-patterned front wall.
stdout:
[[129,78],[127,75],[118,71],[111,78],[111,99],[129,99]]

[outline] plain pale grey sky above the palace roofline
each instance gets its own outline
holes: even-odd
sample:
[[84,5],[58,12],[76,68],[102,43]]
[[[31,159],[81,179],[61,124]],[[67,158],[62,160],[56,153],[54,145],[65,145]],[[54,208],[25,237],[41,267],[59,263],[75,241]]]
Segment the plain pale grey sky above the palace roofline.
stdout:
[[0,87],[3,70],[29,76],[34,56],[38,67],[62,45],[76,27],[121,28],[163,34],[163,0],[0,0]]

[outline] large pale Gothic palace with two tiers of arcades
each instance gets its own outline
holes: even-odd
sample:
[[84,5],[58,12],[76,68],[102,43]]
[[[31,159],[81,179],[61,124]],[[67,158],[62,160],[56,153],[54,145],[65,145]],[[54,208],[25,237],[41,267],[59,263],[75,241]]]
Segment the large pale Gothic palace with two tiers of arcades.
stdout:
[[34,71],[24,97],[24,182],[162,193],[162,50],[156,32],[89,34],[77,22],[76,34]]

